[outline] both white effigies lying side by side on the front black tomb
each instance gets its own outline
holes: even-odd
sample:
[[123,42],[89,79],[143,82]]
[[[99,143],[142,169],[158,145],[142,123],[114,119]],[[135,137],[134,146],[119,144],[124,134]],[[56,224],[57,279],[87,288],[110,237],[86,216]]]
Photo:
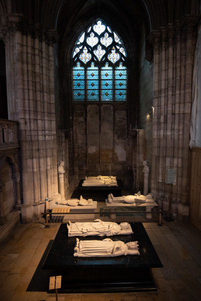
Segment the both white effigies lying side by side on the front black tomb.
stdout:
[[[112,236],[130,235],[133,233],[129,223],[104,222],[100,219],[94,222],[69,221],[68,236]],[[124,243],[110,238],[103,240],[79,240],[76,238],[75,257],[116,257],[120,255],[139,255],[138,241]]]

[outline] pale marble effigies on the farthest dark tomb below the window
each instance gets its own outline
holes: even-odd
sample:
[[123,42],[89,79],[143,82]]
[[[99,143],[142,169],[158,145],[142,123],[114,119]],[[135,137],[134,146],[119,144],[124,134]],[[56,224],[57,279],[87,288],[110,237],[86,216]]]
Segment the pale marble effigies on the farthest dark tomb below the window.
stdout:
[[85,177],[82,186],[118,186],[116,177],[113,176],[97,176],[97,177]]

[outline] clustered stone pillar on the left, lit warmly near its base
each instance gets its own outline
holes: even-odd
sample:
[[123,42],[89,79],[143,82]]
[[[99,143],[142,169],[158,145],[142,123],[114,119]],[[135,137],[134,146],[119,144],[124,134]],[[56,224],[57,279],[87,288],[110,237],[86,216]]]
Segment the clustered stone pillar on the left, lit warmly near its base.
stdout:
[[[45,31],[22,16],[8,15],[4,26],[9,119],[19,121],[22,158],[23,222],[36,209],[60,197],[57,180],[53,43]],[[34,205],[34,207],[33,207]],[[37,211],[34,213],[34,211]]]

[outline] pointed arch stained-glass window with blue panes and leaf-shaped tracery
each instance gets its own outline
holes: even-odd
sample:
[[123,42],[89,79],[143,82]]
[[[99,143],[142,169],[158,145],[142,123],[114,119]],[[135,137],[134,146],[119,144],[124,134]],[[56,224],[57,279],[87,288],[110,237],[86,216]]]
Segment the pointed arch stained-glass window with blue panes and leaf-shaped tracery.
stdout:
[[118,34],[103,20],[95,20],[73,48],[73,101],[125,102],[126,61]]

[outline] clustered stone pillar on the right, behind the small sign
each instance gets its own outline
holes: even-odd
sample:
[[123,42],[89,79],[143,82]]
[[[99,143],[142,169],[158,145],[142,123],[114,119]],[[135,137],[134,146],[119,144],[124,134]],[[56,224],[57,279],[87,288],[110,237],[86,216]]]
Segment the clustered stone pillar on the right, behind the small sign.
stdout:
[[187,219],[189,210],[188,144],[197,22],[197,17],[187,16],[149,36],[154,49],[151,193],[167,210],[167,169],[174,169],[171,212],[180,219]]

